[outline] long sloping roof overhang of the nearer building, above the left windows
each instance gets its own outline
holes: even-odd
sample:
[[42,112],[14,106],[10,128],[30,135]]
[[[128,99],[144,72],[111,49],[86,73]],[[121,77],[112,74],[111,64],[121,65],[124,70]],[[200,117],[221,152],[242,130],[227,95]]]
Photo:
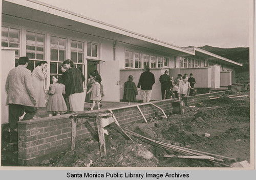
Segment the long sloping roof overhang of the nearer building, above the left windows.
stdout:
[[35,0],[4,0],[2,19],[20,19],[131,44],[174,56],[195,55],[188,49],[140,35]]

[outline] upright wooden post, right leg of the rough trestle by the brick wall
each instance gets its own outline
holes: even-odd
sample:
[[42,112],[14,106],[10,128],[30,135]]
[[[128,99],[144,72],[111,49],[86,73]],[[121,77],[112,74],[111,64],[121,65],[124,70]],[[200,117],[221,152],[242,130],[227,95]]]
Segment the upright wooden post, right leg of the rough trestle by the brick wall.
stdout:
[[98,128],[98,135],[99,135],[99,150],[101,158],[106,158],[106,145],[105,145],[105,137],[102,127],[102,118],[100,116],[96,117],[96,123]]

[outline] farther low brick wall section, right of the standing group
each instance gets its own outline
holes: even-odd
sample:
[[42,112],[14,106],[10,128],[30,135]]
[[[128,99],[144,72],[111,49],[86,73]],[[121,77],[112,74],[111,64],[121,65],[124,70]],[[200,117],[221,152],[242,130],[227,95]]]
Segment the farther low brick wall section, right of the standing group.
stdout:
[[202,102],[203,100],[209,99],[209,96],[220,96],[225,94],[225,91],[218,91],[218,92],[212,92],[212,93],[206,93],[206,94],[197,94],[196,96],[187,96],[183,97],[182,99],[185,102],[186,106],[189,105],[195,105],[199,102]]

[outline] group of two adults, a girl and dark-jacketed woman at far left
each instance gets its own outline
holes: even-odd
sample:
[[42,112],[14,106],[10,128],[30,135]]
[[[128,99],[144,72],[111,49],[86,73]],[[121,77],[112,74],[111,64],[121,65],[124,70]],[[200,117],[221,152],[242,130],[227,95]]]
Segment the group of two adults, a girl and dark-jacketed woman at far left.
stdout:
[[85,78],[71,60],[63,62],[61,76],[52,77],[53,84],[47,91],[47,103],[44,89],[47,62],[40,61],[32,75],[27,69],[28,64],[28,57],[20,57],[18,66],[10,70],[6,80],[12,142],[17,142],[17,121],[38,118],[37,109],[40,107],[46,107],[48,116],[79,112],[84,107],[82,84]]

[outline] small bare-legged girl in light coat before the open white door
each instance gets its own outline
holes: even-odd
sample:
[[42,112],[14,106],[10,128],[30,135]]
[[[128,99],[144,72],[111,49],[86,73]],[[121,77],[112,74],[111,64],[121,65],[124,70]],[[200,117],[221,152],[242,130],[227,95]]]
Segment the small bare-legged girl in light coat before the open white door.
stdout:
[[91,100],[93,101],[93,105],[92,108],[90,109],[91,111],[93,110],[94,106],[95,106],[95,102],[97,104],[98,110],[100,110],[100,105],[99,105],[99,101],[101,100],[101,95],[100,95],[100,84],[98,83],[98,80],[96,78],[96,76],[94,77],[94,79],[92,79],[92,88],[87,92],[87,94],[91,93]]

